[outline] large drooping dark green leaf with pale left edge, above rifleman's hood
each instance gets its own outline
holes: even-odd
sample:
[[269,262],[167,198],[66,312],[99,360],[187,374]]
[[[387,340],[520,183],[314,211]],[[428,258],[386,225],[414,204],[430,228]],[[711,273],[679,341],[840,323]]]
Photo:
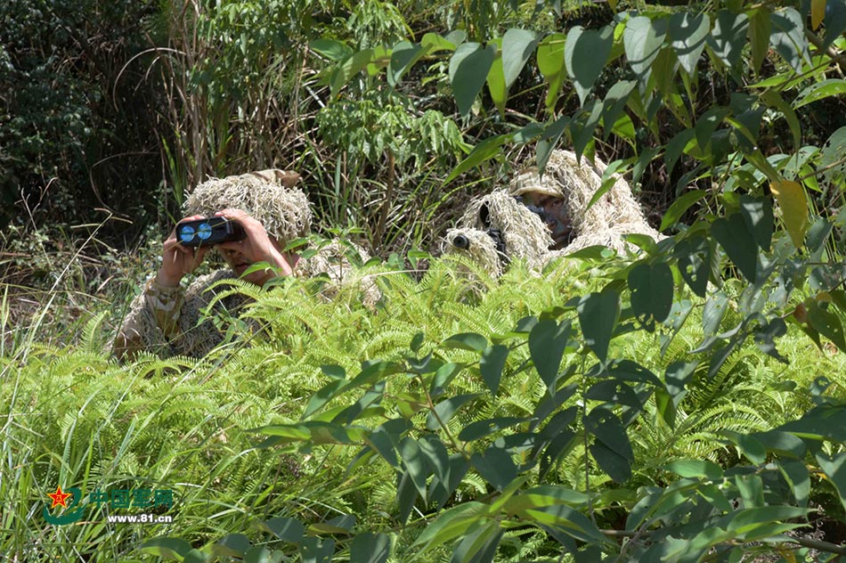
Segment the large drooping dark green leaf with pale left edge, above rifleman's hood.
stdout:
[[614,29],[610,26],[601,31],[576,26],[567,33],[564,61],[582,105],[602,73],[613,43]]

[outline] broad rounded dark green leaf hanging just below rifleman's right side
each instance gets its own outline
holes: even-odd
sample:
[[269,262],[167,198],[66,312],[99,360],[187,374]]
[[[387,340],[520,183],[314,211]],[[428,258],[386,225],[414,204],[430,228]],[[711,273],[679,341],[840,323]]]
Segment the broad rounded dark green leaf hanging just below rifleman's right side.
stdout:
[[663,322],[672,308],[672,272],[665,262],[640,262],[629,271],[631,309],[649,332],[655,322]]

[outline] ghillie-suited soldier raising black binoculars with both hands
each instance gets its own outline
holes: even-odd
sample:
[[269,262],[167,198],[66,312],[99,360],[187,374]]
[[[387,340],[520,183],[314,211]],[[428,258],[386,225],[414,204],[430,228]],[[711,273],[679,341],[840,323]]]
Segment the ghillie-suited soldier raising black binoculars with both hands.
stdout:
[[[176,240],[175,230],[170,233],[164,242],[158,273],[134,299],[118,332],[115,355],[123,358],[141,351],[160,356],[206,355],[224,339],[215,323],[205,318],[203,312],[207,306],[214,303],[214,312],[237,316],[248,303],[246,296],[231,291],[228,284],[218,283],[222,280],[240,277],[264,286],[277,275],[308,276],[324,272],[329,274],[330,284],[341,282],[338,271],[343,268],[338,264],[344,263],[347,270],[352,266],[340,253],[326,257],[327,251],[321,251],[314,257],[316,264],[310,264],[296,253],[285,251],[288,241],[305,236],[311,225],[308,199],[295,186],[299,177],[284,170],[264,170],[212,178],[199,184],[185,202],[188,215],[185,220],[223,216],[238,222],[246,236],[241,241],[217,244],[215,248],[229,268],[199,276],[186,290],[181,285],[183,277],[197,269],[209,247],[183,246]],[[361,254],[366,260],[363,251]],[[259,262],[272,268],[245,274],[251,265]],[[378,291],[375,298],[372,296],[375,287],[363,289],[365,301],[378,299]],[[217,298],[218,295],[222,297]]]

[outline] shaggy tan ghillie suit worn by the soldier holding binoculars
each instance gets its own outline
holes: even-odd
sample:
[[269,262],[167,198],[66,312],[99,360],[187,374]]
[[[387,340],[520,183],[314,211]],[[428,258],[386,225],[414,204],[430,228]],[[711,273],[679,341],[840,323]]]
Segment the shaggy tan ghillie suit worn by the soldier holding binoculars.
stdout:
[[[309,232],[312,211],[305,193],[295,187],[299,175],[284,170],[263,170],[244,175],[211,178],[199,184],[185,202],[184,213],[211,216],[224,208],[240,208],[264,225],[284,247],[288,241]],[[358,249],[358,247],[353,247]],[[363,250],[362,260],[367,259]],[[331,296],[345,282],[362,284],[362,301],[373,306],[380,297],[368,278],[347,275],[353,271],[338,242],[320,249],[311,258],[301,258],[294,265],[297,277],[326,273],[328,283],[322,293]],[[224,340],[224,332],[215,318],[237,317],[250,299],[232,291],[236,280],[232,270],[224,269],[199,276],[188,286],[167,288],[150,279],[141,295],[134,298],[130,311],[114,342],[118,357],[148,351],[159,356],[206,355]],[[214,287],[213,287],[214,286]],[[222,298],[216,298],[218,295]],[[209,309],[209,306],[210,310]],[[257,330],[255,322],[250,330]]]

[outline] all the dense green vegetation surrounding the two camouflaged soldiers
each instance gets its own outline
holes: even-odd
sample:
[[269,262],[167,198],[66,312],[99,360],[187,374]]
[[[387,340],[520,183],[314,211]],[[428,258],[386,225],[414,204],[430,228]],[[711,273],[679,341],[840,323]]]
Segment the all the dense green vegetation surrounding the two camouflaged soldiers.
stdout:
[[[842,1],[89,4],[0,5],[4,558],[846,555]],[[500,279],[417,250],[556,146],[671,236]],[[207,357],[111,359],[159,216],[269,166],[378,306],[240,283]]]

